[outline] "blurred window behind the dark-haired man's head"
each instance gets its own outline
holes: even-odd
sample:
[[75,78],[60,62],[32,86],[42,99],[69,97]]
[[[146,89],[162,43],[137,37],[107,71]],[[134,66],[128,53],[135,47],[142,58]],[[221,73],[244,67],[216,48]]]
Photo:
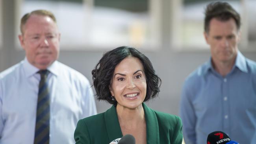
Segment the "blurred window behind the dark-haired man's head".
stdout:
[[[241,15],[241,41],[240,49],[256,49],[256,29],[253,28],[256,20],[254,0],[228,0],[228,2]],[[171,2],[173,14],[171,18],[171,42],[178,50],[204,50],[209,49],[204,39],[204,10],[214,0],[178,0]],[[253,47],[254,45],[254,47]]]

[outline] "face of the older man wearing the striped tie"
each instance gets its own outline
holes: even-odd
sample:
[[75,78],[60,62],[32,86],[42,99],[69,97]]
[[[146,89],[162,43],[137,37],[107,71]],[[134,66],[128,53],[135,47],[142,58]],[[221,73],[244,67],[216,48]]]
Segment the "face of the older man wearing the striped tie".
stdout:
[[52,18],[31,15],[19,35],[28,61],[39,69],[46,69],[59,57],[60,34]]

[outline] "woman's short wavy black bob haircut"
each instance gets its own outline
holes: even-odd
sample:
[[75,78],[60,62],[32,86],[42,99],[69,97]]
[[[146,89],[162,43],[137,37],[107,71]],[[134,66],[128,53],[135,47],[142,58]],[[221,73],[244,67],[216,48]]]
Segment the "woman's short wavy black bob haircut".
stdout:
[[161,79],[155,74],[155,70],[148,57],[135,48],[121,46],[106,52],[91,72],[98,100],[106,100],[111,104],[117,105],[117,101],[111,98],[110,87],[115,67],[126,57],[137,57],[143,65],[147,82],[147,93],[144,102],[158,96]]

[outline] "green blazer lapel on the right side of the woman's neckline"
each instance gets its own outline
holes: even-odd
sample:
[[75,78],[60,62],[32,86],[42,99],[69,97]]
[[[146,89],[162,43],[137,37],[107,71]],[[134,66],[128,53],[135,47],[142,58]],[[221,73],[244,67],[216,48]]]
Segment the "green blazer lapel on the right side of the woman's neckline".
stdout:
[[159,144],[159,127],[156,113],[142,103],[147,125],[147,144]]

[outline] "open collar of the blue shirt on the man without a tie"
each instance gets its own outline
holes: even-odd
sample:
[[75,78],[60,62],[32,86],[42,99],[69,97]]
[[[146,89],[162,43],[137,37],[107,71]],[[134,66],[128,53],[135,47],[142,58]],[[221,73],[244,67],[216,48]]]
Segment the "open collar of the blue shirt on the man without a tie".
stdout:
[[[211,57],[210,57],[209,61],[206,62],[205,66],[206,67],[204,69],[204,74],[207,74],[209,72],[209,70],[212,70],[212,71],[214,70],[213,65],[211,63]],[[245,56],[243,56],[243,54],[240,51],[237,52],[236,62],[235,62],[235,65],[233,66],[231,72],[234,70],[235,67],[237,67],[242,72],[248,73]]]

